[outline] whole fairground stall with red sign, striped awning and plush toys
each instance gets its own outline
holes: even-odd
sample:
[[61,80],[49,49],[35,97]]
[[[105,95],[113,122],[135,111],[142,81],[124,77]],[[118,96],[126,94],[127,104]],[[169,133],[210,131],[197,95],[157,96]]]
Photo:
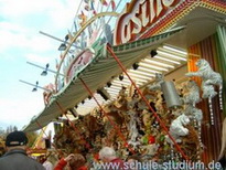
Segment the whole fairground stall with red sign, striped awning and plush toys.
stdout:
[[60,49],[45,108],[53,146],[121,158],[216,160],[225,102],[226,1],[84,0]]

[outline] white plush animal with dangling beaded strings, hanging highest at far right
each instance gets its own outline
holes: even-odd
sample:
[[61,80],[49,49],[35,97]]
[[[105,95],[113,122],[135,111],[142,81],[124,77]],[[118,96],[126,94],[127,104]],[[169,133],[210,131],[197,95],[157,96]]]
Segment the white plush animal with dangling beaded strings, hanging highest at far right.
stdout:
[[214,115],[212,108],[212,98],[217,95],[214,89],[214,85],[219,87],[219,105],[220,109],[223,109],[222,104],[222,88],[223,88],[223,79],[219,73],[216,73],[212,70],[209,63],[206,60],[198,60],[196,62],[196,66],[198,67],[197,72],[187,73],[186,76],[198,76],[202,78],[202,91],[203,98],[208,98],[209,111],[211,111],[211,121],[214,125]]

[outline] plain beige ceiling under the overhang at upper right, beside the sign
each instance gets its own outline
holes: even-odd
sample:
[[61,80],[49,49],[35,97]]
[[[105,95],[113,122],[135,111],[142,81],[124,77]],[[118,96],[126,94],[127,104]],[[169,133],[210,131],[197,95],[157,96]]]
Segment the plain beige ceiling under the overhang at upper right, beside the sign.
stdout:
[[225,14],[211,9],[196,7],[187,15],[184,15],[174,26],[186,25],[184,34],[174,36],[169,44],[187,49],[191,45],[208,38],[216,32],[218,24],[226,25]]

